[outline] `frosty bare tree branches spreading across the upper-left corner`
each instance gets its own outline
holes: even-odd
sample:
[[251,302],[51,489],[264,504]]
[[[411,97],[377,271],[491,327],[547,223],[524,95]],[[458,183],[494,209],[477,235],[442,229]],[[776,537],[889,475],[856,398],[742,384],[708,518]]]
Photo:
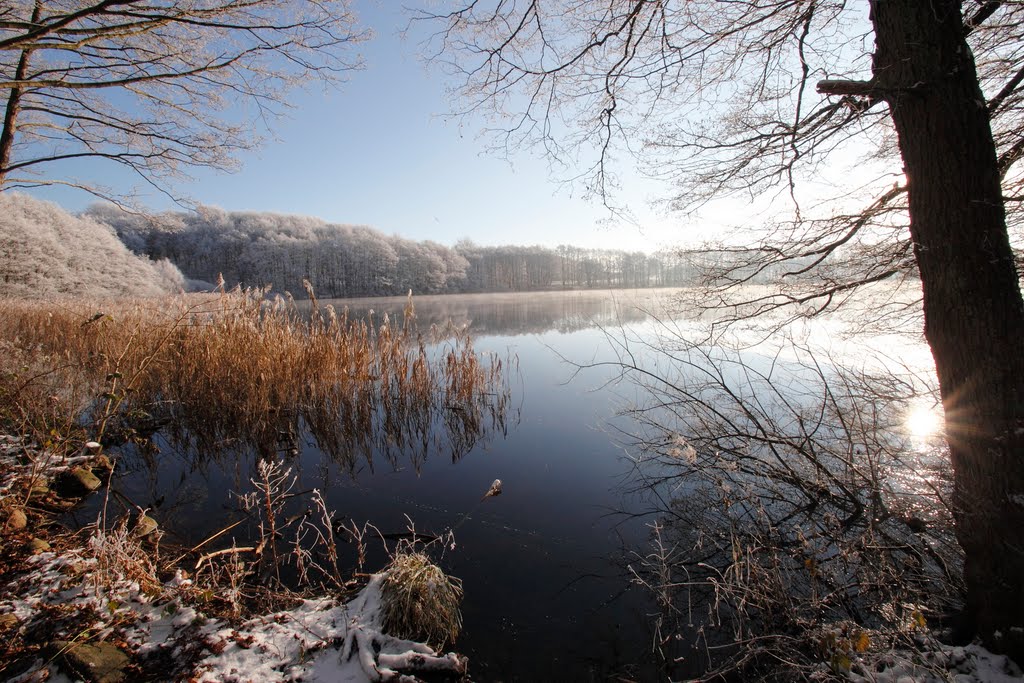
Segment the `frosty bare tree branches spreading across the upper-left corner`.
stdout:
[[0,12],[0,189],[91,180],[54,162],[119,164],[167,190],[231,168],[294,86],[334,82],[367,38],[349,0],[19,0]]

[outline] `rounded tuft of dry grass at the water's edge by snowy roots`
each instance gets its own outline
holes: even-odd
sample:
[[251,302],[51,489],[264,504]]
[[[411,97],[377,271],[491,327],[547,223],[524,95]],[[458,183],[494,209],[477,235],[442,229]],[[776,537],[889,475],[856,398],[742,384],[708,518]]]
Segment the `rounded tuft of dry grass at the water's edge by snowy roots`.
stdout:
[[384,573],[383,630],[437,650],[462,631],[462,581],[421,552],[400,551]]

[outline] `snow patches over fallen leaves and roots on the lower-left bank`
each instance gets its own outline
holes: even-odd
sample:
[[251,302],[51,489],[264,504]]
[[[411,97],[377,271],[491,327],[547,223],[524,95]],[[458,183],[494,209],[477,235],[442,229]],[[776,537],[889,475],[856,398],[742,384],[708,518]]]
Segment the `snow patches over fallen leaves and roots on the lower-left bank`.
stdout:
[[[347,603],[305,600],[294,609],[231,626],[181,604],[189,581],[180,573],[160,590],[146,591],[131,581],[102,586],[95,581],[95,560],[77,552],[60,557],[43,553],[29,562],[30,570],[3,588],[0,613],[16,615],[23,629],[38,627],[53,605],[98,614],[78,634],[80,642],[116,640],[137,663],[151,657],[173,661],[181,670],[168,671],[170,678],[415,681],[419,673],[462,677],[466,672],[466,660],[458,654],[438,654],[423,643],[383,632],[383,573],[374,574]],[[56,660],[39,659],[15,680],[58,676],[57,667]]]

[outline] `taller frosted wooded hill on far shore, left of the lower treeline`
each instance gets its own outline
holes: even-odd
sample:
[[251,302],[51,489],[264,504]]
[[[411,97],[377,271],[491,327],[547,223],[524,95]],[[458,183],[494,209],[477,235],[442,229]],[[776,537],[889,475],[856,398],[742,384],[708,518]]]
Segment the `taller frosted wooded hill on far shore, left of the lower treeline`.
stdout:
[[86,215],[111,225],[132,251],[169,258],[194,280],[223,274],[228,287],[271,285],[304,296],[305,279],[323,297],[446,292],[459,289],[468,267],[439,244],[307,216],[212,207],[142,216],[111,205]]

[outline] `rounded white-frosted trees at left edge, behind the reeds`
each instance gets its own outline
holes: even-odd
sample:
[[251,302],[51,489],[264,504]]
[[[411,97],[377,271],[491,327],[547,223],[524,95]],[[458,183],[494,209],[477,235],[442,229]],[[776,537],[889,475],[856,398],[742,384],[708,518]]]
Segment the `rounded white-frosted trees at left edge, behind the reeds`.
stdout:
[[156,296],[184,280],[129,251],[109,225],[17,193],[0,194],[0,296]]

